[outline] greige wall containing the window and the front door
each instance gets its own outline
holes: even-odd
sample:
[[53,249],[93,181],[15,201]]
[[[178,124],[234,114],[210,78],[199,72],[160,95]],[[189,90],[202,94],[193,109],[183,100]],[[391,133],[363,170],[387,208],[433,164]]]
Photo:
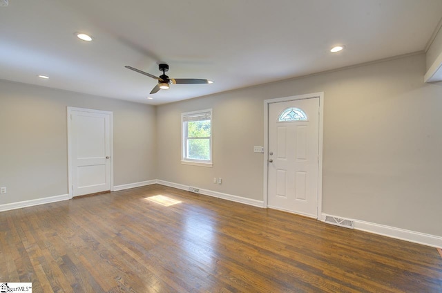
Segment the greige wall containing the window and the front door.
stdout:
[[[421,54],[158,106],[158,178],[263,200],[263,100],[324,92],[323,212],[442,236],[442,83],[424,74]],[[204,108],[213,168],[183,165],[180,113]]]

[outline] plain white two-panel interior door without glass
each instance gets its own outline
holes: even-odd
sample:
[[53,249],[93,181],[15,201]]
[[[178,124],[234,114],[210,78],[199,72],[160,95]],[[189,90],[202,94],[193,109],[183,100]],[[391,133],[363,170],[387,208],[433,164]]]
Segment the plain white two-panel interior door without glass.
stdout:
[[111,115],[68,108],[73,196],[111,190]]

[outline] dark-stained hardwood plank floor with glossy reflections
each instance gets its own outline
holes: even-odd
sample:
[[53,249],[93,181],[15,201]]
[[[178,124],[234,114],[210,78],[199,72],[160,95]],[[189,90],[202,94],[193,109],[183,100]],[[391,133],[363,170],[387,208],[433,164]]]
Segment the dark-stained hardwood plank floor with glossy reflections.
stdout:
[[161,185],[4,211],[0,233],[0,282],[32,292],[442,292],[435,248]]

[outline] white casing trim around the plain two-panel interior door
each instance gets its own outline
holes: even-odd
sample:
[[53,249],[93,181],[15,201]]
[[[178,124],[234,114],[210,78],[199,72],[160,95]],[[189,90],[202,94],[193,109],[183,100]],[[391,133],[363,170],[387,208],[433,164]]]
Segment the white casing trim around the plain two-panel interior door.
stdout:
[[72,150],[72,137],[71,137],[71,127],[72,127],[72,120],[70,119],[70,115],[74,111],[79,112],[88,112],[88,113],[97,113],[97,114],[106,114],[109,115],[109,124],[110,124],[110,140],[111,145],[110,151],[111,151],[111,158],[110,158],[110,164],[111,164],[111,178],[110,180],[110,187],[111,191],[113,191],[113,112],[112,111],[102,111],[102,110],[95,110],[95,109],[89,109],[89,108],[77,108],[77,107],[71,107],[68,106],[67,108],[67,115],[66,119],[68,120],[68,194],[69,198],[73,198],[73,179],[72,179],[72,156],[71,156],[71,150]]

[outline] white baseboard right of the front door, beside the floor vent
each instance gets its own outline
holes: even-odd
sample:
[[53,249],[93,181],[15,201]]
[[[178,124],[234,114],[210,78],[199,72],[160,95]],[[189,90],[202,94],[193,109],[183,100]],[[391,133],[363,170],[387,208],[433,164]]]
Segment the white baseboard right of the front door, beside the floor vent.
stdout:
[[[338,216],[338,218],[342,217]],[[322,220],[323,222],[325,221],[325,214],[322,214],[322,218],[320,220]],[[436,247],[436,248],[442,247],[442,237],[440,236],[425,234],[416,231],[410,231],[406,229],[401,229],[401,228],[396,228],[376,223],[365,222],[363,220],[354,220],[354,229],[382,236],[387,236],[391,238],[396,238],[400,240],[405,240],[412,243],[419,243],[431,247]]]

